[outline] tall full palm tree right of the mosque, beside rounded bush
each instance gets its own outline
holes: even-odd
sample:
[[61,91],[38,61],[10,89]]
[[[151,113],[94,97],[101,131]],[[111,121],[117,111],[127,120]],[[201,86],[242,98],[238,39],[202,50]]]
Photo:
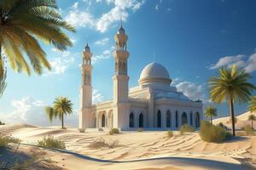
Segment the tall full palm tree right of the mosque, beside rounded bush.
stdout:
[[218,77],[211,77],[209,80],[210,98],[213,102],[221,104],[227,100],[230,105],[230,117],[232,119],[232,132],[236,136],[234,102],[246,102],[250,99],[255,86],[247,82],[251,78],[244,70],[237,69],[236,65],[231,68],[218,70]]

